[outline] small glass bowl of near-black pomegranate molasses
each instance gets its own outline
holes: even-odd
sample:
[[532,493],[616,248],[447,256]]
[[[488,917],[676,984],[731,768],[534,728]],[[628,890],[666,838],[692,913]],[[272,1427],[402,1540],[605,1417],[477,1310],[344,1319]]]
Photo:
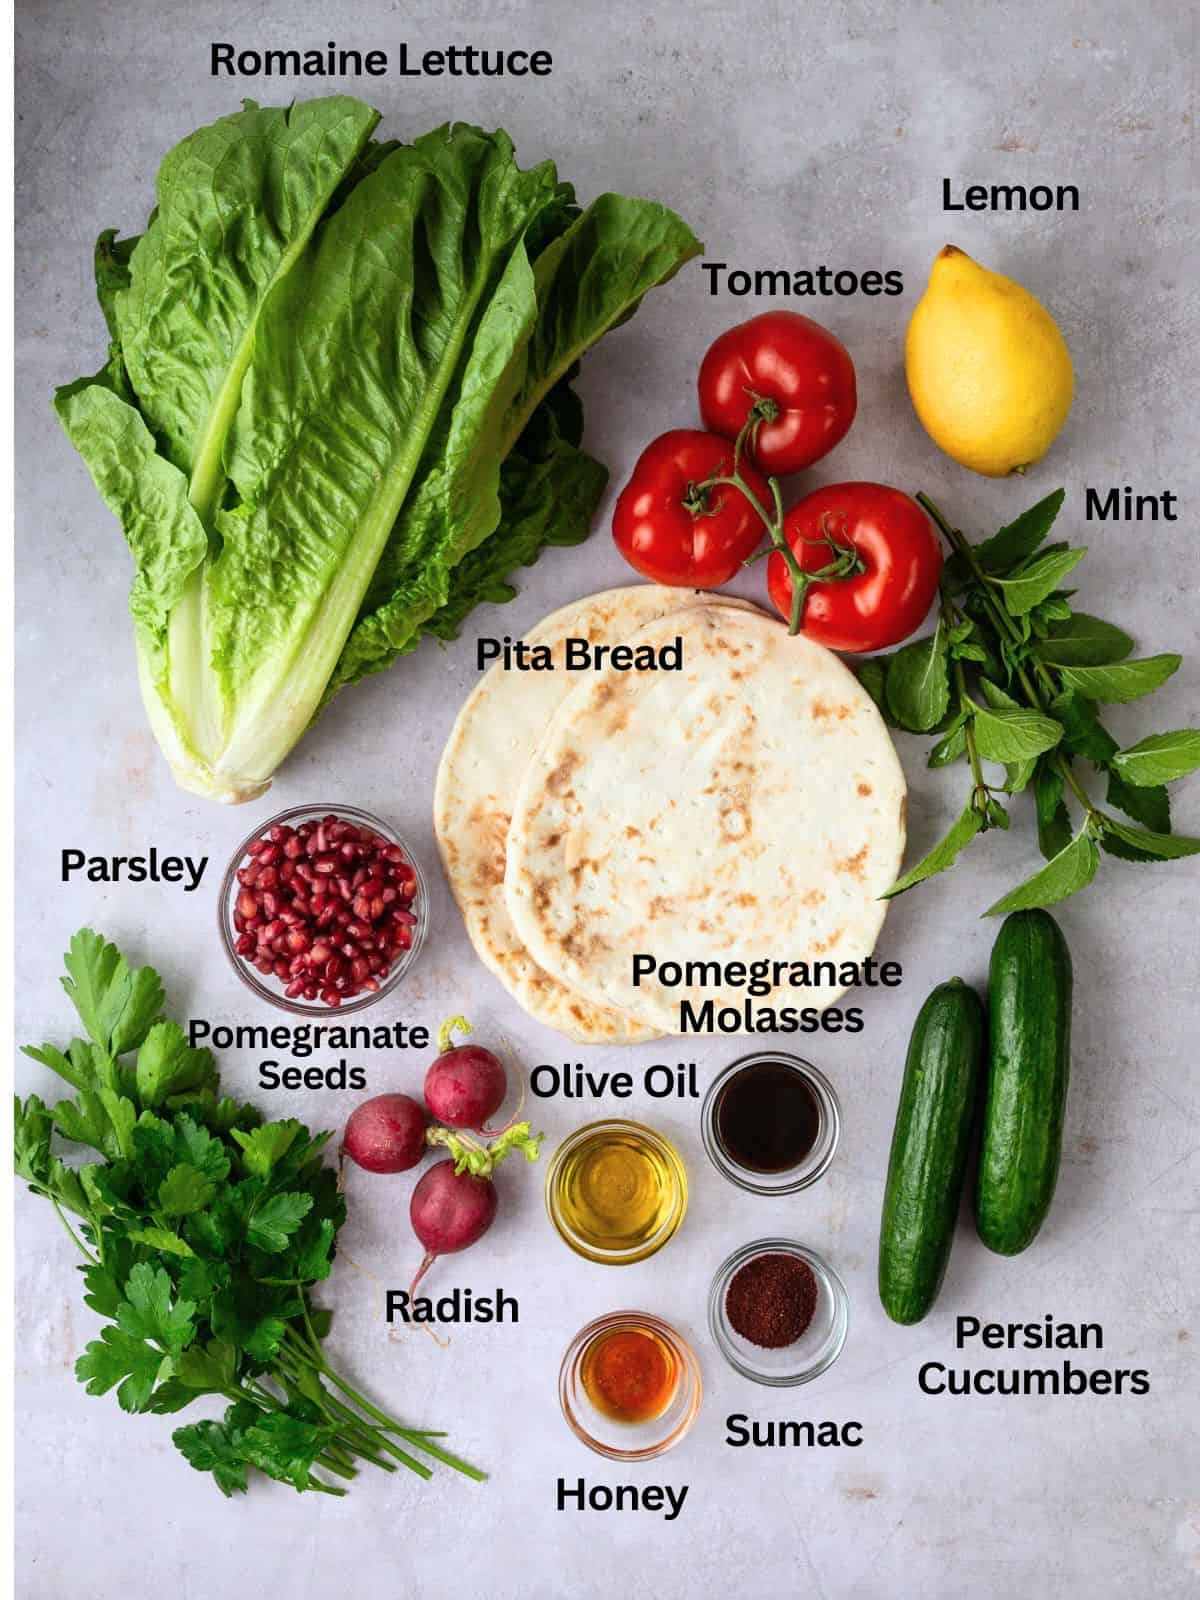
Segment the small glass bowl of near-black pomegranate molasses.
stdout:
[[827,1170],[842,1131],[829,1078],[782,1051],[742,1056],[704,1096],[701,1133],[717,1171],[755,1195],[808,1189]]

